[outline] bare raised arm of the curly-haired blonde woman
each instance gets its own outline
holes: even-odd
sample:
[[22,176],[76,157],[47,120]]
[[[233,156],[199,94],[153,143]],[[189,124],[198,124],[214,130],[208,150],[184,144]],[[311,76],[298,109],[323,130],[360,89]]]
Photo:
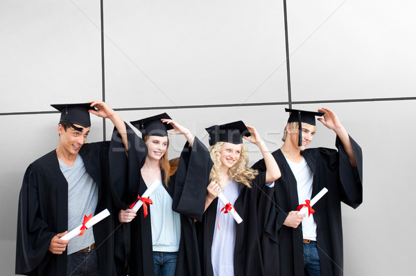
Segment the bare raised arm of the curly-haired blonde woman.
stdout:
[[246,126],[250,131],[250,137],[244,136],[245,140],[252,142],[253,144],[259,147],[261,154],[264,158],[264,163],[266,164],[266,183],[275,181],[281,176],[279,166],[276,163],[275,158],[272,156],[268,150],[266,144],[261,140],[257,130],[254,127]]

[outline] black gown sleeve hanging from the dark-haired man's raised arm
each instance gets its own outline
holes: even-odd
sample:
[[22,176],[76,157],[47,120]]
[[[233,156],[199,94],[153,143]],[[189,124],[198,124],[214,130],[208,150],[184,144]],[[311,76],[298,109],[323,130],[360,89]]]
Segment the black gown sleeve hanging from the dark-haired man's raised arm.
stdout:
[[112,197],[119,210],[126,210],[137,200],[140,187],[140,169],[148,154],[146,143],[129,125],[125,125],[128,137],[128,155],[119,131],[114,127],[110,142],[109,160],[112,180]]

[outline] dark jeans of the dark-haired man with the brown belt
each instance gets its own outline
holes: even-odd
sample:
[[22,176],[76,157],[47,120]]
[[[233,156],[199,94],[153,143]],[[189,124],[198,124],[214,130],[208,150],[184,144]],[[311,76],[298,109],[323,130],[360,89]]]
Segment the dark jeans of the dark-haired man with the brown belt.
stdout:
[[100,276],[96,250],[68,255],[67,276]]

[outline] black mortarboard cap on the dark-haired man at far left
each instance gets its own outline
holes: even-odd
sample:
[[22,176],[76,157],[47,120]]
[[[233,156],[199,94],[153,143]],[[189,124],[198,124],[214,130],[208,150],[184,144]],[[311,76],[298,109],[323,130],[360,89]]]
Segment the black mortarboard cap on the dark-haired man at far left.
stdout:
[[[83,131],[82,127],[91,127],[88,110],[95,109],[91,107],[90,102],[83,104],[51,104],[51,107],[61,112],[60,122],[67,122],[73,129]],[[82,127],[76,127],[73,124]]]

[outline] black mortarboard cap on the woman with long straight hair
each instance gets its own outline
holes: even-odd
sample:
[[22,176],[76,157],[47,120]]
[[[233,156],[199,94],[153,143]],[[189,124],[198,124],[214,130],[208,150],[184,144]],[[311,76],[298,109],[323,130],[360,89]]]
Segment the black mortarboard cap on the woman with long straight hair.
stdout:
[[165,122],[162,122],[161,119],[172,119],[166,113],[162,113],[156,116],[136,120],[130,122],[134,125],[143,136],[168,136],[168,130],[173,129],[173,127]]

